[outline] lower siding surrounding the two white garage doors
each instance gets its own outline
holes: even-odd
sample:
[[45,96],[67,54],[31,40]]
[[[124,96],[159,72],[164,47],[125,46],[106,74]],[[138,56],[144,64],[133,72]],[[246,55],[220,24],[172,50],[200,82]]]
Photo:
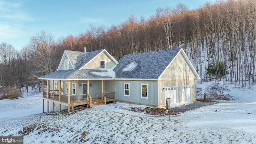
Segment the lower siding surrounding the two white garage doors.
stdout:
[[182,100],[182,86],[192,86],[192,100],[196,99],[196,80],[164,80],[158,82],[158,106],[166,104],[165,88],[172,86],[178,86],[178,102]]

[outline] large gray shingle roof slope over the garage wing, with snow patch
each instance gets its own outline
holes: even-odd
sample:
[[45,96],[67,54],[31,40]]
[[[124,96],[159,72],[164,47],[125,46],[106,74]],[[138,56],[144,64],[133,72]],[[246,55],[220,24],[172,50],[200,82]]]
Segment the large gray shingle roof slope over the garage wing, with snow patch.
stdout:
[[116,78],[157,79],[180,49],[125,55],[114,68]]

